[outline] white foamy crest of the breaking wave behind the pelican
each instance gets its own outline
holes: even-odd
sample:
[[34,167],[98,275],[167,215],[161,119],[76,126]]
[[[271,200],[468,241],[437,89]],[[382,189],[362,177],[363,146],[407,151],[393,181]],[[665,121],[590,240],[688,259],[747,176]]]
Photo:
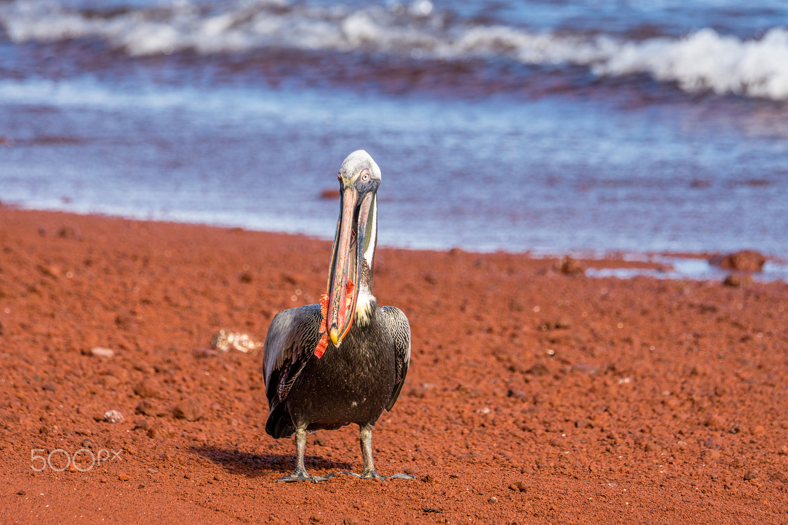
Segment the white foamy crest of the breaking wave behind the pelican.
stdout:
[[0,24],[14,43],[99,38],[132,56],[195,50],[233,53],[262,47],[347,52],[372,50],[415,59],[461,61],[507,57],[531,65],[588,66],[599,76],[645,73],[686,91],[711,90],[788,99],[788,30],[738,39],[702,29],[683,38],[641,42],[611,36],[555,35],[503,25],[452,24],[429,0],[403,9],[380,6],[290,6],[264,0],[224,10],[189,2],[96,16],[52,0],[0,6]]

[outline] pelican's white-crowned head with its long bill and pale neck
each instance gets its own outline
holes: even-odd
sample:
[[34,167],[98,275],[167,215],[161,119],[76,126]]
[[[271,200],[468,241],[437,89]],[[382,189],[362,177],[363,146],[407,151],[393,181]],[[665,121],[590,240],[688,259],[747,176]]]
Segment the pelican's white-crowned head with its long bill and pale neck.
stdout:
[[325,318],[329,338],[337,347],[353,325],[359,290],[365,300],[371,296],[381,169],[369,153],[358,150],[344,159],[338,178],[340,219],[331,253]]

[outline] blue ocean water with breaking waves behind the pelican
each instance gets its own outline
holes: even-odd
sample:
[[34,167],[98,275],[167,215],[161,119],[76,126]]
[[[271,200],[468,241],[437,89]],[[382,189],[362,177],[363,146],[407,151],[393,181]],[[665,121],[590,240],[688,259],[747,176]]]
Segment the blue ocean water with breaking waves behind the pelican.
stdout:
[[[788,257],[782,0],[0,2],[0,199],[330,238]],[[788,270],[786,270],[788,271]]]

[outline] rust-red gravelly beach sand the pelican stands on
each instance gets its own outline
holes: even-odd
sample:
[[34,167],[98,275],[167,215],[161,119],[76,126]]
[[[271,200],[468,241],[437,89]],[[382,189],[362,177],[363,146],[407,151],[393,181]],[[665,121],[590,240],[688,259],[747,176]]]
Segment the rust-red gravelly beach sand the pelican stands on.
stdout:
[[277,483],[295,450],[265,433],[262,354],[208,348],[316,303],[329,249],[0,208],[4,519],[788,522],[788,285],[583,274],[648,266],[615,260],[380,249],[413,342],[374,460],[416,478],[339,474],[362,468],[348,426],[307,440],[335,478]]

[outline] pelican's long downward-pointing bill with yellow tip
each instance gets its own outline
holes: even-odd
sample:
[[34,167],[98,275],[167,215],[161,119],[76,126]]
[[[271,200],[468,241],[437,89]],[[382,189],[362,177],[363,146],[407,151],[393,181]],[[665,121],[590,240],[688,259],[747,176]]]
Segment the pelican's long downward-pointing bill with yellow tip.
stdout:
[[359,195],[355,186],[349,184],[344,186],[340,195],[340,220],[336,225],[331,253],[329,303],[325,319],[329,338],[336,347],[353,325],[373,200],[373,192]]

